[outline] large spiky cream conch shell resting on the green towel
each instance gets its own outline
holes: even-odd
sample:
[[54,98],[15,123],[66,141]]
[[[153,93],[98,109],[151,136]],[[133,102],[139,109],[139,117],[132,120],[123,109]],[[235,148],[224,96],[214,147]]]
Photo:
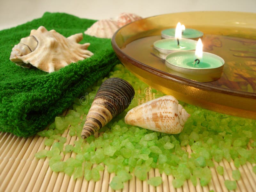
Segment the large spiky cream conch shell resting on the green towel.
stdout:
[[47,31],[41,26],[31,30],[30,36],[22,38],[12,48],[10,60],[21,67],[33,65],[51,73],[93,55],[87,50],[90,43],[78,44],[82,39],[82,33],[66,38],[55,30]]

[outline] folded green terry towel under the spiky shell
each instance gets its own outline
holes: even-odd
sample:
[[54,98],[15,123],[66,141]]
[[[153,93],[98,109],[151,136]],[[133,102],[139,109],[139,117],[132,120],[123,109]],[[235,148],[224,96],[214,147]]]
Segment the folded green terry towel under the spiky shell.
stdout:
[[95,21],[46,12],[42,18],[0,31],[0,131],[22,137],[36,134],[118,62],[110,39],[84,35],[80,44],[91,43],[88,50],[94,55],[49,74],[10,61],[13,46],[40,26],[68,37],[83,33]]

